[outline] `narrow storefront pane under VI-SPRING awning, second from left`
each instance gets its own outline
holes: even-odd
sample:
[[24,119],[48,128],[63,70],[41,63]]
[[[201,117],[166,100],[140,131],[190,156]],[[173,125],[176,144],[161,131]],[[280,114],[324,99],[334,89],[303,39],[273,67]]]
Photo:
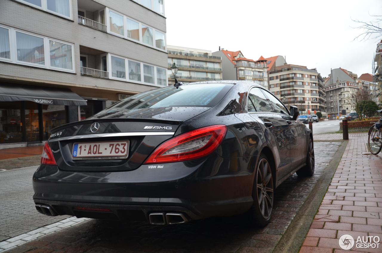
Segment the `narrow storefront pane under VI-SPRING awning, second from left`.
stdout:
[[39,109],[37,103],[25,103],[26,141],[40,141]]

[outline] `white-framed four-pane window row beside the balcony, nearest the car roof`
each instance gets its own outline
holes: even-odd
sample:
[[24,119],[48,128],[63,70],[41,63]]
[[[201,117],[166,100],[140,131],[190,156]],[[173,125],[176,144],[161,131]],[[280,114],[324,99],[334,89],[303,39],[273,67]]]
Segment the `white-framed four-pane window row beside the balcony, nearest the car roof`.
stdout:
[[[112,56],[125,59],[125,73],[126,73],[125,76],[126,76],[126,78],[118,78],[118,77],[112,76]],[[133,62],[138,62],[141,64],[141,81],[135,81],[135,80],[129,79],[129,72],[128,72],[129,71],[129,62],[128,62],[129,60],[131,60]],[[143,64],[154,67],[154,83],[145,83],[144,82]],[[155,86],[155,87],[166,87],[166,86],[162,86],[162,85],[157,84],[157,68],[162,68],[162,69],[166,70],[166,77],[167,77],[167,68],[155,66],[155,65],[152,65],[150,63],[141,62],[141,61],[131,59],[131,58],[126,58],[126,57],[123,57],[120,55],[115,55],[115,54],[110,54],[110,53],[107,54],[107,71],[109,73],[109,79],[118,80],[118,81],[125,81],[125,82],[129,82],[129,83],[144,84],[144,85]],[[168,80],[167,80],[167,86],[168,86]]]

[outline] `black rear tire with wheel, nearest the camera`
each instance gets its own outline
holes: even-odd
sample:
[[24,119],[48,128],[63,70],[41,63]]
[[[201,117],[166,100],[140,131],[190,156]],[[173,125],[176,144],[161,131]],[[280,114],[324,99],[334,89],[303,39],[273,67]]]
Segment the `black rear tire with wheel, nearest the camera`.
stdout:
[[[274,202],[272,169],[267,157],[261,154],[254,170],[252,190],[253,205],[246,212],[246,222],[254,227],[264,227],[270,221]],[[265,175],[265,176],[264,176]]]

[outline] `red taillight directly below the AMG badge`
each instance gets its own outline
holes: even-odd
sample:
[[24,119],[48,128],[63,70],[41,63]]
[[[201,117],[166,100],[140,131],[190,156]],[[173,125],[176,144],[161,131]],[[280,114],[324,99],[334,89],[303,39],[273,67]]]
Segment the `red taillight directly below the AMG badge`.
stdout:
[[155,149],[144,164],[181,162],[211,154],[227,133],[227,126],[213,125],[178,135]]

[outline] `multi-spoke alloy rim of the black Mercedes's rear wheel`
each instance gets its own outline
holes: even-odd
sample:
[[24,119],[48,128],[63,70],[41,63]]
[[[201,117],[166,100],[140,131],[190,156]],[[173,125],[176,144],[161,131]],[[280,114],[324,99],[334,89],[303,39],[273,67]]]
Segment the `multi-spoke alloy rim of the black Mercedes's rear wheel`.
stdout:
[[269,219],[273,206],[273,180],[268,161],[262,158],[257,165],[257,202],[261,215]]

